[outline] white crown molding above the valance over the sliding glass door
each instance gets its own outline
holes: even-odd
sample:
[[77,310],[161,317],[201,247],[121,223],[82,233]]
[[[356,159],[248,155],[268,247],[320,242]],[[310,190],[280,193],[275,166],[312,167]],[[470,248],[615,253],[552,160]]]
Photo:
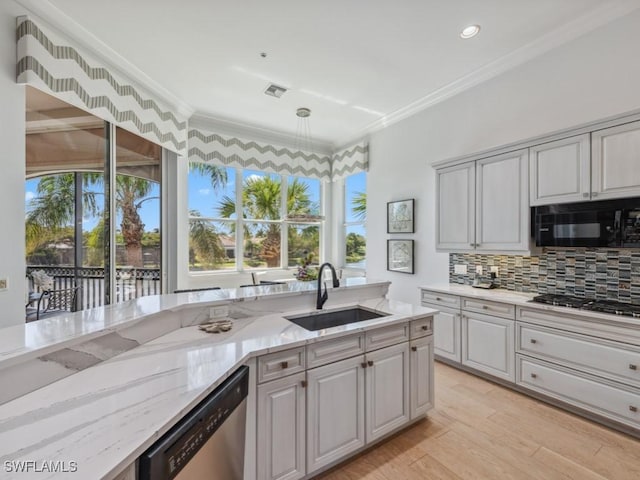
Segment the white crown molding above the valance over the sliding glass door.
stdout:
[[158,99],[175,108],[180,115],[185,118],[193,115],[195,111],[193,106],[167,90],[83,26],[73,21],[71,17],[49,3],[48,0],[15,1],[55,31],[76,42],[83,51],[104,62],[105,66],[108,66],[124,78],[133,80],[138,86],[153,93]]

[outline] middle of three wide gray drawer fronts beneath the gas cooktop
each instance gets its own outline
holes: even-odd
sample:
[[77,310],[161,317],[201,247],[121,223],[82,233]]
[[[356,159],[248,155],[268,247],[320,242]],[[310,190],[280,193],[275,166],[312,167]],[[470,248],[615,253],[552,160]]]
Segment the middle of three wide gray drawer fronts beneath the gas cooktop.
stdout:
[[520,353],[640,387],[638,347],[522,324],[517,326],[517,340]]

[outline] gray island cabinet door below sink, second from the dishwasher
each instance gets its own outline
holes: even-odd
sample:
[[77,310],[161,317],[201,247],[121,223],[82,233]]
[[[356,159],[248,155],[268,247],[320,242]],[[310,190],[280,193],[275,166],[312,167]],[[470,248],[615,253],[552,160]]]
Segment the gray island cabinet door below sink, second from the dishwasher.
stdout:
[[313,472],[364,446],[364,356],[307,371],[307,459]]

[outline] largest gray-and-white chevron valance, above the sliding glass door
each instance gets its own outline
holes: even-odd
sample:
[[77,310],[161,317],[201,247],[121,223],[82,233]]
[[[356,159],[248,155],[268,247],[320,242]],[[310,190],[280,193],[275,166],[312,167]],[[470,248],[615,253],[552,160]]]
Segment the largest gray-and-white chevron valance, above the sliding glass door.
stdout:
[[29,17],[17,20],[17,82],[38,88],[147,140],[187,154],[186,118],[93,61]]

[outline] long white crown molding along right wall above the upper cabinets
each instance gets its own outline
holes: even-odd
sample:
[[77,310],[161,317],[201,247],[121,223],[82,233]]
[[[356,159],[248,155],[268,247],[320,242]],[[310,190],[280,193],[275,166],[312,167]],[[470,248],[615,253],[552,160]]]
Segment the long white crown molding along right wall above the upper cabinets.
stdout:
[[601,26],[604,26],[634,10],[640,8],[637,0],[622,0],[609,4],[602,4],[594,10],[577,17],[571,22],[547,33],[546,35],[530,42],[513,52],[498,58],[473,72],[441,87],[424,97],[385,115],[378,120],[366,125],[358,132],[339,138],[336,144],[345,145],[368,134],[382,130],[394,123],[398,123],[416,113],[426,110],[440,102],[443,102],[465,90],[479,85],[493,77],[507,72],[523,63],[553,50],[565,43],[585,35]]

